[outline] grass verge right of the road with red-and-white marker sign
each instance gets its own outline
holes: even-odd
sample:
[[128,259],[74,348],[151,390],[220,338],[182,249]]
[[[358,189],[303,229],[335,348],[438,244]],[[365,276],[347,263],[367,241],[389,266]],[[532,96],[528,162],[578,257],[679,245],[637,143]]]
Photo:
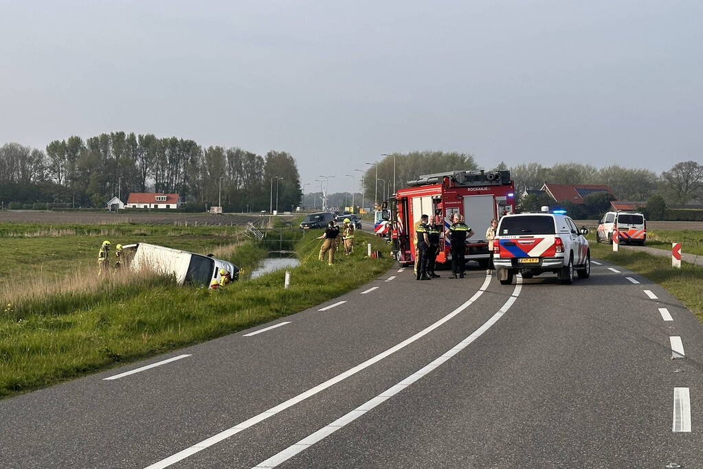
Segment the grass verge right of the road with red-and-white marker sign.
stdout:
[[671,258],[639,251],[613,252],[610,244],[596,244],[592,235],[589,235],[588,242],[593,258],[621,265],[664,286],[703,322],[703,268],[684,262],[681,263],[681,269],[674,269],[671,267]]

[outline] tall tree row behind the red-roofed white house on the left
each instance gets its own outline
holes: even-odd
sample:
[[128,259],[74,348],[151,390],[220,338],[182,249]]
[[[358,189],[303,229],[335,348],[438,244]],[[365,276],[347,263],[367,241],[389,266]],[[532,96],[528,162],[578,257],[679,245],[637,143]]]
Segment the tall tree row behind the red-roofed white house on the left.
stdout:
[[[276,177],[279,180],[276,180]],[[278,204],[290,210],[302,197],[295,159],[241,148],[201,147],[194,140],[112,132],[83,140],[54,140],[41,150],[0,147],[0,199],[103,207],[129,192],[178,193],[198,208],[222,203],[232,210],[269,209],[271,180]]]

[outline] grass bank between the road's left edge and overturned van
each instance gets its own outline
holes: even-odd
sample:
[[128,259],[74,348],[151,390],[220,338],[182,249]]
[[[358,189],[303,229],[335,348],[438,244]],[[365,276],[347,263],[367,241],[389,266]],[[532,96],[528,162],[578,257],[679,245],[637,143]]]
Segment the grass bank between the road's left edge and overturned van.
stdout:
[[[221,291],[140,279],[92,296],[49,296],[31,308],[5,308],[0,316],[0,396],[290,315],[361,286],[393,263],[388,254],[378,260],[363,258],[365,242],[385,253],[388,249],[382,239],[359,233],[354,256],[342,255],[330,267],[317,260],[320,242],[313,234],[296,244],[302,264],[292,269],[288,290],[283,289],[283,271]],[[261,254],[258,246],[247,243],[234,251],[232,260],[241,265],[241,256]]]

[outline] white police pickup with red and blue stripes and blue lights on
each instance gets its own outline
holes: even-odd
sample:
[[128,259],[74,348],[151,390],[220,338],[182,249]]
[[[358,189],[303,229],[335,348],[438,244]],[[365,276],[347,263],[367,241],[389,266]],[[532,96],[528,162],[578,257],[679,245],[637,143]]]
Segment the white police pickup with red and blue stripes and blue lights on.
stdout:
[[501,218],[493,243],[493,263],[503,285],[512,284],[518,272],[531,279],[544,272],[557,274],[570,284],[591,275],[591,251],[586,228],[558,211],[520,213]]

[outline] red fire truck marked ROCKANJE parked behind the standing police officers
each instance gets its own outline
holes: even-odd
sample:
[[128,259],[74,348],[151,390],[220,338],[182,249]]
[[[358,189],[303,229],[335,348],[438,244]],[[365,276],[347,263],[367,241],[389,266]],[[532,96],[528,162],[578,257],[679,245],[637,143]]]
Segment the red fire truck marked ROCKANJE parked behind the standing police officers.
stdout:
[[[466,260],[476,260],[482,268],[489,265],[490,254],[486,228],[491,218],[500,219],[515,213],[515,185],[510,171],[453,171],[426,174],[408,181],[389,201],[394,209],[385,211],[392,229],[389,242],[393,244],[396,259],[401,265],[415,263],[415,226],[423,214],[437,216],[444,221],[445,230],[451,225],[454,213],[460,213],[474,231],[467,239]],[[435,215],[439,213],[439,215]],[[451,260],[449,239],[441,234],[444,249],[439,251],[437,263]]]

